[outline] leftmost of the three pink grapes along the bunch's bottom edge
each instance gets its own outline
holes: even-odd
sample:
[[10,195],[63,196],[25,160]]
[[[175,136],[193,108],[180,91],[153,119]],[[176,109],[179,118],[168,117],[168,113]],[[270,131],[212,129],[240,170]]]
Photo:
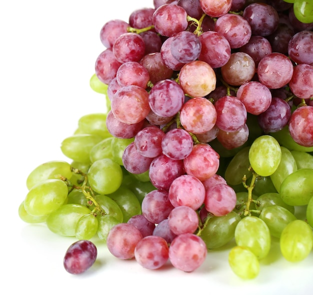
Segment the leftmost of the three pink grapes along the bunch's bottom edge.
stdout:
[[119,259],[134,257],[136,244],[142,239],[140,230],[130,223],[114,225],[106,238],[107,249]]

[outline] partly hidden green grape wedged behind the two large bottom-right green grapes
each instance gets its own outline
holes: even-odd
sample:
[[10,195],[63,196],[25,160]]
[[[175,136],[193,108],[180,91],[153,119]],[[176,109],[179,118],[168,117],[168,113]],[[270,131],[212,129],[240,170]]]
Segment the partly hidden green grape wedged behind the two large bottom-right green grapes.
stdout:
[[296,217],[286,208],[279,205],[264,207],[259,214],[270,231],[270,234],[275,237],[280,237],[283,228]]

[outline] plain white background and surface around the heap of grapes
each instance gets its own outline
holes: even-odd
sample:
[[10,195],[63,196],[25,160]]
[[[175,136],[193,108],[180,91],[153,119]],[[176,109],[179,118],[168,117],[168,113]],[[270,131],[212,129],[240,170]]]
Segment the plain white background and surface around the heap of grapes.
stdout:
[[97,262],[84,274],[71,275],[62,260],[75,239],[19,219],[17,208],[27,193],[28,173],[45,161],[67,160],[60,143],[74,132],[80,116],[105,111],[103,95],[89,87],[95,59],[104,50],[100,28],[113,18],[128,21],[133,10],[152,5],[152,0],[1,2],[0,293],[302,294],[311,290],[313,253],[290,263],[281,258],[278,244],[261,262],[259,276],[249,281],[232,273],[227,248],[209,252],[200,268],[184,273],[170,266],[147,270],[134,260],[118,260],[101,243]]

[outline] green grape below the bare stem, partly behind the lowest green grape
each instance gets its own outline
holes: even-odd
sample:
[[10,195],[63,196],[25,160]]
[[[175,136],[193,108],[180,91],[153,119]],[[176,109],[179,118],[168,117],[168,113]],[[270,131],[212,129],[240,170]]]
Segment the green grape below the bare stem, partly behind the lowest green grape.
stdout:
[[249,248],[258,259],[267,256],[270,250],[270,232],[266,223],[256,216],[242,218],[234,232],[238,246]]

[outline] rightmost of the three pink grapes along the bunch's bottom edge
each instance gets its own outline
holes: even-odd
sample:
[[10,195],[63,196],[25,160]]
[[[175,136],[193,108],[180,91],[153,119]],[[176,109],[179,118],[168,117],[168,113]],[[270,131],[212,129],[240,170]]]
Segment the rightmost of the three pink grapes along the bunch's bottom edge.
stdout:
[[198,268],[207,254],[204,241],[193,233],[177,235],[169,246],[169,261],[182,271],[191,272]]

